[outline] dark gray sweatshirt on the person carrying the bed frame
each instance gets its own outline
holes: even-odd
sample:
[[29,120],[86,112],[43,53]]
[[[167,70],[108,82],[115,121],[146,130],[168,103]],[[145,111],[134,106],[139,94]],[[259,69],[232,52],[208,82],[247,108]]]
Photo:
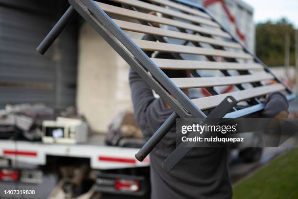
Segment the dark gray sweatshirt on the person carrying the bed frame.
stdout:
[[[134,115],[149,138],[173,112],[155,99],[149,85],[132,69],[129,74]],[[150,153],[152,199],[230,199],[226,148],[194,148],[167,173],[162,162],[176,148],[175,127]]]

